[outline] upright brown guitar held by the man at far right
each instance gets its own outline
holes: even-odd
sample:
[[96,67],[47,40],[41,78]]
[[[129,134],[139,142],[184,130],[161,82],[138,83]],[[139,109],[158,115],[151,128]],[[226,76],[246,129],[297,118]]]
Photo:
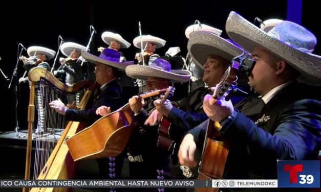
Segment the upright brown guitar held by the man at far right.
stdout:
[[[249,69],[249,67],[243,65],[244,60],[245,57],[243,57],[243,54],[233,59],[220,83],[217,84],[215,92],[213,93],[213,98],[219,100],[228,96],[230,90],[237,84],[238,71],[240,69]],[[249,61],[249,59],[247,61]],[[248,63],[245,63],[245,65],[248,65]],[[219,122],[213,122],[209,119],[198,179],[223,179],[230,141],[220,134],[219,131],[221,128]],[[195,191],[217,192],[219,191],[219,188],[196,188]]]

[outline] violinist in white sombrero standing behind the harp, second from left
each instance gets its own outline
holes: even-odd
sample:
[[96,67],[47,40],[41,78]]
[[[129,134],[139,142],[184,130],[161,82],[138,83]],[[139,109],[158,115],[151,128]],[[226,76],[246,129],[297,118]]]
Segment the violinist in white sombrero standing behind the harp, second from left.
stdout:
[[[66,85],[74,85],[79,81],[84,80],[84,75],[81,67],[80,52],[85,51],[86,47],[74,42],[65,42],[61,44],[60,51],[67,58],[60,59],[61,66],[58,70],[54,71],[54,75],[57,78],[61,78],[66,75]],[[83,92],[79,95],[81,99]],[[72,104],[76,102],[76,95],[67,95],[68,103]]]

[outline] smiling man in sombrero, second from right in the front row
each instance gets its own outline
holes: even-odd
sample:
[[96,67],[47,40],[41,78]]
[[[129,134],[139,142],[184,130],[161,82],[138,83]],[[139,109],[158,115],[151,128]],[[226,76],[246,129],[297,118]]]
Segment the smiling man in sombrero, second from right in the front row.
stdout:
[[[220,37],[221,32],[218,29],[211,29],[211,31],[197,31],[188,35],[188,54],[196,65],[204,68],[202,80],[209,87],[216,86],[225,74],[231,60],[245,52],[231,41]],[[247,54],[247,57],[250,56]],[[175,130],[171,137],[180,140],[187,130],[208,119],[203,110],[203,99],[206,94],[212,93],[207,87],[199,87],[190,94],[190,97],[176,102],[179,108],[173,107],[170,103],[167,106],[161,105],[160,100],[156,100],[154,105],[157,111],[149,116],[147,123],[153,125],[157,122],[156,118],[159,121],[162,115],[167,116],[168,121],[172,123],[172,130]],[[233,96],[233,103],[237,103],[239,97],[236,96],[241,96],[241,94],[237,93]],[[244,96],[242,95],[242,97]],[[156,112],[159,112],[161,116],[155,114]],[[196,173],[197,170],[194,170],[194,174]]]

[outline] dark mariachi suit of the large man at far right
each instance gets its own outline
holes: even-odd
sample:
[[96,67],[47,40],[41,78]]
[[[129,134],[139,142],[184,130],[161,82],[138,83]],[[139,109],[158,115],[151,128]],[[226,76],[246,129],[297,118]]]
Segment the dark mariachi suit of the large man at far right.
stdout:
[[[221,133],[233,141],[224,178],[276,179],[277,159],[317,159],[321,147],[321,97],[317,89],[320,87],[294,81],[252,119],[237,110],[224,119]],[[206,125],[204,122],[189,132],[202,141],[200,133],[206,131]]]

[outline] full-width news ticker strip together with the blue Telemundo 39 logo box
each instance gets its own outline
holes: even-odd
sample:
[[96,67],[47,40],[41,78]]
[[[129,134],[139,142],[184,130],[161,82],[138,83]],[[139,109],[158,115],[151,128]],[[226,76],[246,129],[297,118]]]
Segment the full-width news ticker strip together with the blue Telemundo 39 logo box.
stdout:
[[0,187],[62,188],[276,188],[320,187],[320,161],[277,161],[274,180],[0,180]]

